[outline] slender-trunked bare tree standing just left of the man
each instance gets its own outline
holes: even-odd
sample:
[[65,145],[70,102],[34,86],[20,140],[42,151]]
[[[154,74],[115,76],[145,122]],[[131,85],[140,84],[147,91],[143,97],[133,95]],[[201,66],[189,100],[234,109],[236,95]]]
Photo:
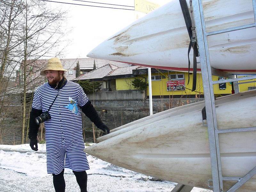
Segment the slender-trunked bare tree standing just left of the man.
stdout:
[[[36,9],[35,9],[36,8]],[[31,84],[28,73],[28,58],[37,60],[42,56],[51,56],[54,54],[52,50],[58,45],[63,36],[61,23],[64,19],[65,12],[61,10],[51,10],[45,3],[38,0],[25,0],[24,24],[23,24],[23,40],[24,60],[23,64],[23,109],[22,109],[22,128],[21,128],[21,144],[24,143],[24,133],[26,127],[26,104],[27,91],[34,89],[35,85]],[[55,53],[56,54],[56,53]],[[55,56],[54,54],[54,56]],[[32,90],[33,91],[33,90]]]

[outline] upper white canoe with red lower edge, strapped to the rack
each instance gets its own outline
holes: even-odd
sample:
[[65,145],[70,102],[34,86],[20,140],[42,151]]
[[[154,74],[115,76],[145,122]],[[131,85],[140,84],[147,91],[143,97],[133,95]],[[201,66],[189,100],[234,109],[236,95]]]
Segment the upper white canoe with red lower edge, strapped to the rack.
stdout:
[[[203,0],[203,6],[207,32],[254,23],[251,0]],[[188,71],[189,41],[179,0],[173,0],[109,37],[87,56]],[[234,74],[256,73],[255,28],[209,36],[208,45],[213,68]],[[198,64],[199,72],[200,68]]]

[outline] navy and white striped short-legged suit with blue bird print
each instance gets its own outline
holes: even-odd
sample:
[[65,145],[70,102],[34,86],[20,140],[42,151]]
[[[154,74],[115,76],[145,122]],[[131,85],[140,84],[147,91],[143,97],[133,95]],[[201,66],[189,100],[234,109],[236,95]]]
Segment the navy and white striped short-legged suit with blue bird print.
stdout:
[[[56,97],[48,83],[40,86],[34,94],[32,108],[47,111]],[[51,119],[44,122],[47,172],[59,174],[63,168],[73,171],[90,169],[85,155],[82,117],[79,106],[84,106],[88,98],[82,87],[68,81],[60,89],[59,95],[49,111]]]

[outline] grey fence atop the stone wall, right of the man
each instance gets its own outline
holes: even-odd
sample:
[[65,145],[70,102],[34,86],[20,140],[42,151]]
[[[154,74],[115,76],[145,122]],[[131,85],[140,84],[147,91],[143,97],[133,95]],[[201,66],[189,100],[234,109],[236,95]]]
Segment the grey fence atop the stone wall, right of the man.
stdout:
[[106,91],[88,93],[88,98],[92,100],[143,100],[146,97],[144,90],[127,91]]

